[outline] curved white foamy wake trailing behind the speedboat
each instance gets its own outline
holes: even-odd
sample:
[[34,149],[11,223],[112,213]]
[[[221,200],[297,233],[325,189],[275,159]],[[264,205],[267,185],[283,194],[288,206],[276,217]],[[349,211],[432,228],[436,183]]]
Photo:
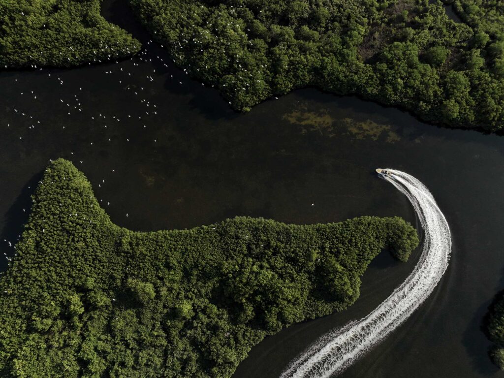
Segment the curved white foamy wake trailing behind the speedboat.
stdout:
[[365,318],[333,330],[314,342],[282,372],[281,378],[327,378],[341,372],[401,325],[429,296],[450,260],[450,228],[427,187],[415,177],[388,169],[383,176],[413,205],[425,233],[413,272]]

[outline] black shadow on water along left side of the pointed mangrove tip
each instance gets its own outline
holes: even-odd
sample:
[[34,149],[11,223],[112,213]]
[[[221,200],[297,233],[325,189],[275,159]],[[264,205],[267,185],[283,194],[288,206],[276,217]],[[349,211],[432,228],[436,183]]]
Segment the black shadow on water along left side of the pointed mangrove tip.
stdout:
[[[13,256],[14,245],[18,242],[21,233],[24,230],[24,225],[28,221],[31,213],[31,195],[38,185],[38,181],[42,178],[43,170],[33,175],[32,178],[23,186],[21,194],[16,198],[12,206],[7,210],[5,215],[6,222],[4,229],[0,232],[0,256]],[[7,242],[4,242],[7,240]],[[9,246],[8,242],[12,243]],[[5,272],[7,269],[7,261],[2,259],[0,263],[0,271]]]

